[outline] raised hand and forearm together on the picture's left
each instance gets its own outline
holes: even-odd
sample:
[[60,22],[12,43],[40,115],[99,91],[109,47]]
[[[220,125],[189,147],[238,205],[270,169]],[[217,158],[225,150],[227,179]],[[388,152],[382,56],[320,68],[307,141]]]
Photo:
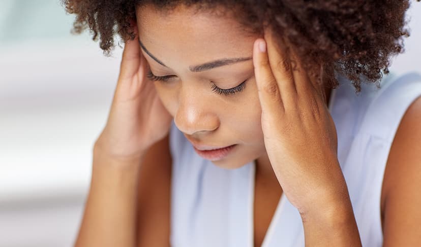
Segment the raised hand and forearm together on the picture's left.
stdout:
[[[132,25],[137,33],[136,24]],[[136,34],[125,44],[107,124],[94,146],[91,188],[76,241],[78,247],[136,246],[138,184],[145,183],[142,188],[160,188],[156,186],[159,179],[142,181],[148,176],[143,168],[150,167],[151,162],[160,167],[161,154],[145,158],[151,157],[147,155],[151,147],[163,139],[167,141],[172,117],[145,76],[147,61],[137,40]],[[155,173],[155,177],[159,176]]]

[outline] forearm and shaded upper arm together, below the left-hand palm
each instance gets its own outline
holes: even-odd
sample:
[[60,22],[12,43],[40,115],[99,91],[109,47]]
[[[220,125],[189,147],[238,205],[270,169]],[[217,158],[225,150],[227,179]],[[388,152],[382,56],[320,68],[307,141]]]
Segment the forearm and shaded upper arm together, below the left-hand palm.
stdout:
[[169,246],[168,136],[139,159],[94,149],[91,189],[76,246]]

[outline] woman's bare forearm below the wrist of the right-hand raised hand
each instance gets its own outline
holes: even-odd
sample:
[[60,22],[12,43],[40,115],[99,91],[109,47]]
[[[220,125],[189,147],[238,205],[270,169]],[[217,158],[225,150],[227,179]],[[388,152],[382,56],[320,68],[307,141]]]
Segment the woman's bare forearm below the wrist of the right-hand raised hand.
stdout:
[[335,206],[324,203],[302,214],[306,246],[361,246],[349,197]]

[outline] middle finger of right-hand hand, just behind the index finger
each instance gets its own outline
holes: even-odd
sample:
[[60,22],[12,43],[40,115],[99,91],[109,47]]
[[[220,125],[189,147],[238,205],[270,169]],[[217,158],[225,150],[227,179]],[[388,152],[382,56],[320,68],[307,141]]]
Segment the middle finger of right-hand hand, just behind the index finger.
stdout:
[[267,42],[270,67],[278,82],[284,104],[294,103],[297,92],[292,74],[294,64],[288,57],[285,43],[276,41],[270,28],[265,29],[264,39]]

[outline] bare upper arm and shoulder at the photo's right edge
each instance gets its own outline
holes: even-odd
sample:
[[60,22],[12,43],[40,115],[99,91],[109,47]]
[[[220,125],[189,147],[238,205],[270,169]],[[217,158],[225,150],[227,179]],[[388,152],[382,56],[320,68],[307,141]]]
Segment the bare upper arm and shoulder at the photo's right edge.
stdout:
[[381,207],[385,246],[415,246],[421,242],[420,140],[421,96],[418,96],[399,123],[384,171]]

